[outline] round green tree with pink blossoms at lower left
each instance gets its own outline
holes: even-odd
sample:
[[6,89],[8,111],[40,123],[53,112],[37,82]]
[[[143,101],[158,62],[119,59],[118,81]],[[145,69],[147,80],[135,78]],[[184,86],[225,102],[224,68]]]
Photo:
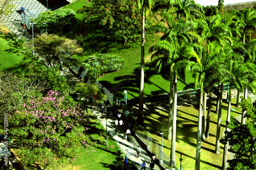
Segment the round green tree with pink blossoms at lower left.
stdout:
[[10,134],[22,163],[41,167],[70,163],[79,150],[95,145],[79,122],[88,113],[69,98],[68,92],[49,91],[47,96],[31,100],[10,115]]

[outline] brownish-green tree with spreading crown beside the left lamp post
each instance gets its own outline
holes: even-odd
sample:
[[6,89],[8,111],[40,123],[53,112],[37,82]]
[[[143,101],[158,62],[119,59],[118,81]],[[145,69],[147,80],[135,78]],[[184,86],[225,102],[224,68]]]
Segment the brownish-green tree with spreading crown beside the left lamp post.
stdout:
[[[32,46],[29,44],[30,47]],[[24,57],[24,62],[29,65],[50,67],[61,64],[76,65],[77,61],[71,56],[82,52],[76,40],[59,37],[54,34],[41,34],[34,39],[35,55],[31,53]]]

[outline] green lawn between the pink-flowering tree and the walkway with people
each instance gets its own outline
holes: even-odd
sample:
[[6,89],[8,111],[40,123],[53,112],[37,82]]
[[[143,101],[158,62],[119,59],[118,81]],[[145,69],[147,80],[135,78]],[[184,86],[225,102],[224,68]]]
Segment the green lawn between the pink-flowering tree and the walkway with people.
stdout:
[[[118,161],[118,156],[116,151],[119,149],[118,144],[115,140],[109,140],[109,150],[106,148],[105,143],[105,129],[96,120],[94,116],[90,116],[92,119],[89,123],[82,123],[84,127],[88,128],[87,134],[93,136],[92,140],[98,142],[98,146],[85,147],[81,150],[81,154],[73,161],[73,163],[68,167],[68,169],[113,169],[115,170],[115,163]],[[94,127],[95,126],[95,127]],[[110,146],[114,146],[111,148]],[[131,164],[131,162],[129,161]],[[67,169],[67,168],[65,168]]]

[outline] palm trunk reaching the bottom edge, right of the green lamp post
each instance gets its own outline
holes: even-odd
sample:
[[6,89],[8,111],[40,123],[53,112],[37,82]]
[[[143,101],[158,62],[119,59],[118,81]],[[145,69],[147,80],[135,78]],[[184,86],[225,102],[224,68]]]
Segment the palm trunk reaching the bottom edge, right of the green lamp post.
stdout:
[[197,150],[196,150],[196,164],[195,170],[200,169],[200,153],[201,153],[201,134],[202,134],[202,110],[203,110],[203,84],[201,85],[199,112],[198,112],[198,126],[197,126]]

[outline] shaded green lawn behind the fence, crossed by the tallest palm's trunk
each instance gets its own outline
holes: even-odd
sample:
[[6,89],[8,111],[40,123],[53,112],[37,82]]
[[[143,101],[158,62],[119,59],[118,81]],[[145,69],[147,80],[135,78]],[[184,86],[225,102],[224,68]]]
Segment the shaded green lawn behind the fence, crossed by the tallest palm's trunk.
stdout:
[[[148,47],[145,48],[145,79],[144,79],[144,96],[168,93],[170,88],[169,80],[161,75],[155,74],[154,71],[148,70],[148,62],[151,61],[151,54],[148,54]],[[140,84],[140,51],[127,53],[117,53],[116,55],[124,58],[123,68],[119,71],[105,75],[98,81],[108,87],[113,95],[123,97],[123,91],[127,90],[128,99],[139,97]],[[187,74],[186,84],[194,82],[191,74]],[[177,89],[182,91],[184,83],[178,81]]]

